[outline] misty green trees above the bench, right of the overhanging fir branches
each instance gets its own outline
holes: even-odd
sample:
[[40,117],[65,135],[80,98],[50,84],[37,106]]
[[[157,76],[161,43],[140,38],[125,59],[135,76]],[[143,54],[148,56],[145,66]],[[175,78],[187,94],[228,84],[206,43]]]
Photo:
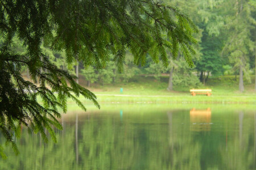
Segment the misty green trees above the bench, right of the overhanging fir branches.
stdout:
[[[220,75],[224,65],[232,66],[230,73],[237,74],[240,67],[250,80],[250,69],[255,65],[256,10],[254,1],[174,0],[170,5],[186,11],[193,22],[203,31],[197,52],[196,69],[200,79],[207,80],[205,73]],[[241,73],[241,72],[240,72]]]

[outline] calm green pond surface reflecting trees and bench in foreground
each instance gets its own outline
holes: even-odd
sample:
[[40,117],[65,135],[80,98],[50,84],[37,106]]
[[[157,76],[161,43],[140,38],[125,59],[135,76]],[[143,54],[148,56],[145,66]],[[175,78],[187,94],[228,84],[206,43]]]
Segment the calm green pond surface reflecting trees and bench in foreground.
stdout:
[[251,108],[151,104],[72,112],[61,118],[56,144],[22,129],[20,154],[6,146],[0,169],[256,169]]

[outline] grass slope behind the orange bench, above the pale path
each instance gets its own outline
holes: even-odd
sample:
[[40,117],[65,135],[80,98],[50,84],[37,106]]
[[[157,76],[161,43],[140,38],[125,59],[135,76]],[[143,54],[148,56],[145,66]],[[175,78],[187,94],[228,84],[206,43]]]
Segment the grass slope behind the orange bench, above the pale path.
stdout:
[[[209,78],[205,86],[200,88],[212,89],[212,96],[255,96],[254,79],[251,83],[245,82],[245,91],[238,90],[238,79],[234,76],[220,76],[218,78]],[[120,88],[123,88],[123,95],[167,95],[167,96],[190,96],[189,89],[184,87],[174,87],[174,91],[167,91],[168,77],[162,77],[156,80],[152,76],[137,76],[129,83],[115,83],[105,86],[92,87],[90,90],[95,94],[121,94]]]

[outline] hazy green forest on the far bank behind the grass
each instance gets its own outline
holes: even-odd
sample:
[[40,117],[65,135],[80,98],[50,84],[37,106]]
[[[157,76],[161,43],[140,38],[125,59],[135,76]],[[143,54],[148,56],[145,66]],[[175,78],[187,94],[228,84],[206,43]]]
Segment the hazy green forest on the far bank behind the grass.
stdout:
[[[150,56],[147,56],[144,66],[137,66],[127,50],[123,71],[120,73],[114,57],[112,61],[105,63],[104,69],[97,69],[96,66],[84,67],[82,63],[68,64],[65,52],[56,52],[43,44],[42,48],[51,62],[76,74],[82,86],[94,90],[133,88],[138,87],[138,84],[151,84],[152,90],[159,88],[163,92],[212,88],[214,84],[226,86],[227,89],[234,87],[235,91],[240,92],[256,90],[255,1],[166,0],[166,3],[186,12],[200,30],[195,35],[197,44],[194,45],[196,55],[193,56],[192,68],[187,65],[181,53],[176,60],[169,53],[170,65],[167,68],[161,62],[152,61]],[[18,38],[14,39],[13,48],[21,54],[26,53],[23,42]],[[23,67],[22,71],[29,79],[28,69]]]

